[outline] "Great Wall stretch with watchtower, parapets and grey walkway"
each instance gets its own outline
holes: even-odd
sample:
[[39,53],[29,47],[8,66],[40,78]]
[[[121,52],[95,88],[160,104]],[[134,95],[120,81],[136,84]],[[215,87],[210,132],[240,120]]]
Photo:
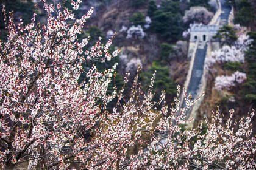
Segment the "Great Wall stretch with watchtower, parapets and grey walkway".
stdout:
[[[207,69],[205,69],[205,58],[210,57],[213,50],[219,49],[219,41],[213,39],[219,28],[223,25],[232,25],[233,7],[226,4],[226,0],[218,1],[218,10],[208,25],[193,25],[190,31],[190,43],[188,58],[190,58],[190,67],[184,84],[187,93],[193,98],[198,98],[206,88]],[[196,117],[199,112],[199,106],[203,101],[201,97],[193,107],[187,111],[187,117]],[[182,96],[181,107],[185,106],[185,100]],[[193,122],[188,127],[193,126]]]

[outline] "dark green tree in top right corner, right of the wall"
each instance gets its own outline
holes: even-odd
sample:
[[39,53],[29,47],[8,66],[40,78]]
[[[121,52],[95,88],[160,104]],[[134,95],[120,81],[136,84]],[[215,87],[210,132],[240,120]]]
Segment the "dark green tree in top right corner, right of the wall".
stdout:
[[255,9],[247,0],[242,0],[236,5],[235,23],[243,26],[249,26],[254,21]]

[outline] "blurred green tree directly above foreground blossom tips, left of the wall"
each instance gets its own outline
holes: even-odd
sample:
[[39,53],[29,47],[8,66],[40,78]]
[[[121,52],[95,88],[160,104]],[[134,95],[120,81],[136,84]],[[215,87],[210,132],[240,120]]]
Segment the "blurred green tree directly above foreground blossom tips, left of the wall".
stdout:
[[161,91],[165,90],[166,101],[170,102],[173,100],[172,97],[176,94],[176,84],[170,77],[168,66],[163,66],[159,62],[153,61],[151,69],[141,74],[141,78],[144,81],[143,84],[150,84],[152,73],[154,73],[155,70],[157,73],[153,87],[155,92],[153,100],[158,101]]

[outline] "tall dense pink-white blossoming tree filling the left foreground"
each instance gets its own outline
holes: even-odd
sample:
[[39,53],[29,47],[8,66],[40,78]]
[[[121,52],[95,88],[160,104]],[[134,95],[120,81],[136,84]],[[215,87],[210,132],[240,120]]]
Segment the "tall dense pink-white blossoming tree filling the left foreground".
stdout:
[[[98,121],[98,101],[113,98],[107,95],[107,87],[114,69],[101,73],[93,66],[86,72],[87,79],[78,83],[85,72],[83,63],[104,62],[119,53],[119,49],[109,52],[112,39],[104,45],[101,38],[84,52],[89,38],[78,41],[77,35],[93,9],[75,19],[61,4],[42,2],[48,13],[44,25],[35,23],[36,13],[29,25],[22,18],[15,25],[13,13],[7,19],[3,10],[8,35],[7,42],[0,44],[1,168],[12,169],[21,161],[41,165],[39,169],[62,167],[63,161],[78,153],[64,148],[84,140],[82,133]],[[80,2],[71,4],[77,9]]]

